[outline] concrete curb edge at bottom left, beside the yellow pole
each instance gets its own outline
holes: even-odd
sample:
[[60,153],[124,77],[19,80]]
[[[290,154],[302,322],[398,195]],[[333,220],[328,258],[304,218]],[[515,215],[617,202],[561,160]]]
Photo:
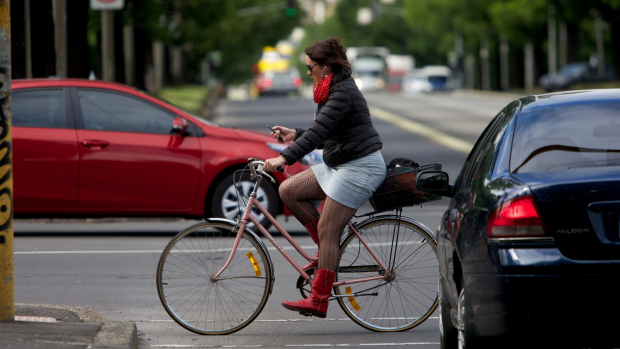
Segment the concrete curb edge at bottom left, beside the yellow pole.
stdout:
[[138,329],[135,323],[107,321],[101,314],[87,307],[16,303],[15,313],[20,316],[52,317],[64,323],[101,324],[101,329],[94,338],[93,349],[138,347]]

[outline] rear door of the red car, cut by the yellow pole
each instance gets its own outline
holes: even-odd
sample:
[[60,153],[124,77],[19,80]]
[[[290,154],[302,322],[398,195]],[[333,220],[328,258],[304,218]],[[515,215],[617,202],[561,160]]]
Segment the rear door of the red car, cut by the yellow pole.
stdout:
[[75,123],[62,87],[16,89],[13,124],[15,213],[75,209],[79,157]]

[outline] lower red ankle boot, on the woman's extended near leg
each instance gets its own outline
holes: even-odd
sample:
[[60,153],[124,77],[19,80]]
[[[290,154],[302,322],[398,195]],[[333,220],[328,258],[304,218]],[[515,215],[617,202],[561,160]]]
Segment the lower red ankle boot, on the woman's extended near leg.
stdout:
[[319,269],[316,271],[310,297],[297,302],[284,301],[282,305],[286,309],[299,311],[301,315],[318,316],[324,318],[327,315],[328,299],[332,294],[334,276],[336,273],[329,269]]

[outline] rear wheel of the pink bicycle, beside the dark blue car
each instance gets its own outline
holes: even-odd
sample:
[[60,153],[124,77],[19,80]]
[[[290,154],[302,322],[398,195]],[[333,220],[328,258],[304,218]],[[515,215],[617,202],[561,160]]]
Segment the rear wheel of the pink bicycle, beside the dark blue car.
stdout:
[[378,265],[356,234],[343,240],[338,281],[387,275],[334,288],[337,295],[351,295],[338,298],[338,303],[360,326],[377,332],[406,331],[437,308],[437,244],[422,227],[395,218],[362,222],[358,231],[388,270]]

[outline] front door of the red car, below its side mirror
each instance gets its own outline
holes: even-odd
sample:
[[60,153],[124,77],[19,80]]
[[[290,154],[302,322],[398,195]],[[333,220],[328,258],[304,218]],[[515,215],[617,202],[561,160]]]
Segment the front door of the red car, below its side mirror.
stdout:
[[72,96],[82,116],[78,207],[153,214],[193,205],[201,159],[193,128],[172,134],[174,113],[138,96],[88,88]]

